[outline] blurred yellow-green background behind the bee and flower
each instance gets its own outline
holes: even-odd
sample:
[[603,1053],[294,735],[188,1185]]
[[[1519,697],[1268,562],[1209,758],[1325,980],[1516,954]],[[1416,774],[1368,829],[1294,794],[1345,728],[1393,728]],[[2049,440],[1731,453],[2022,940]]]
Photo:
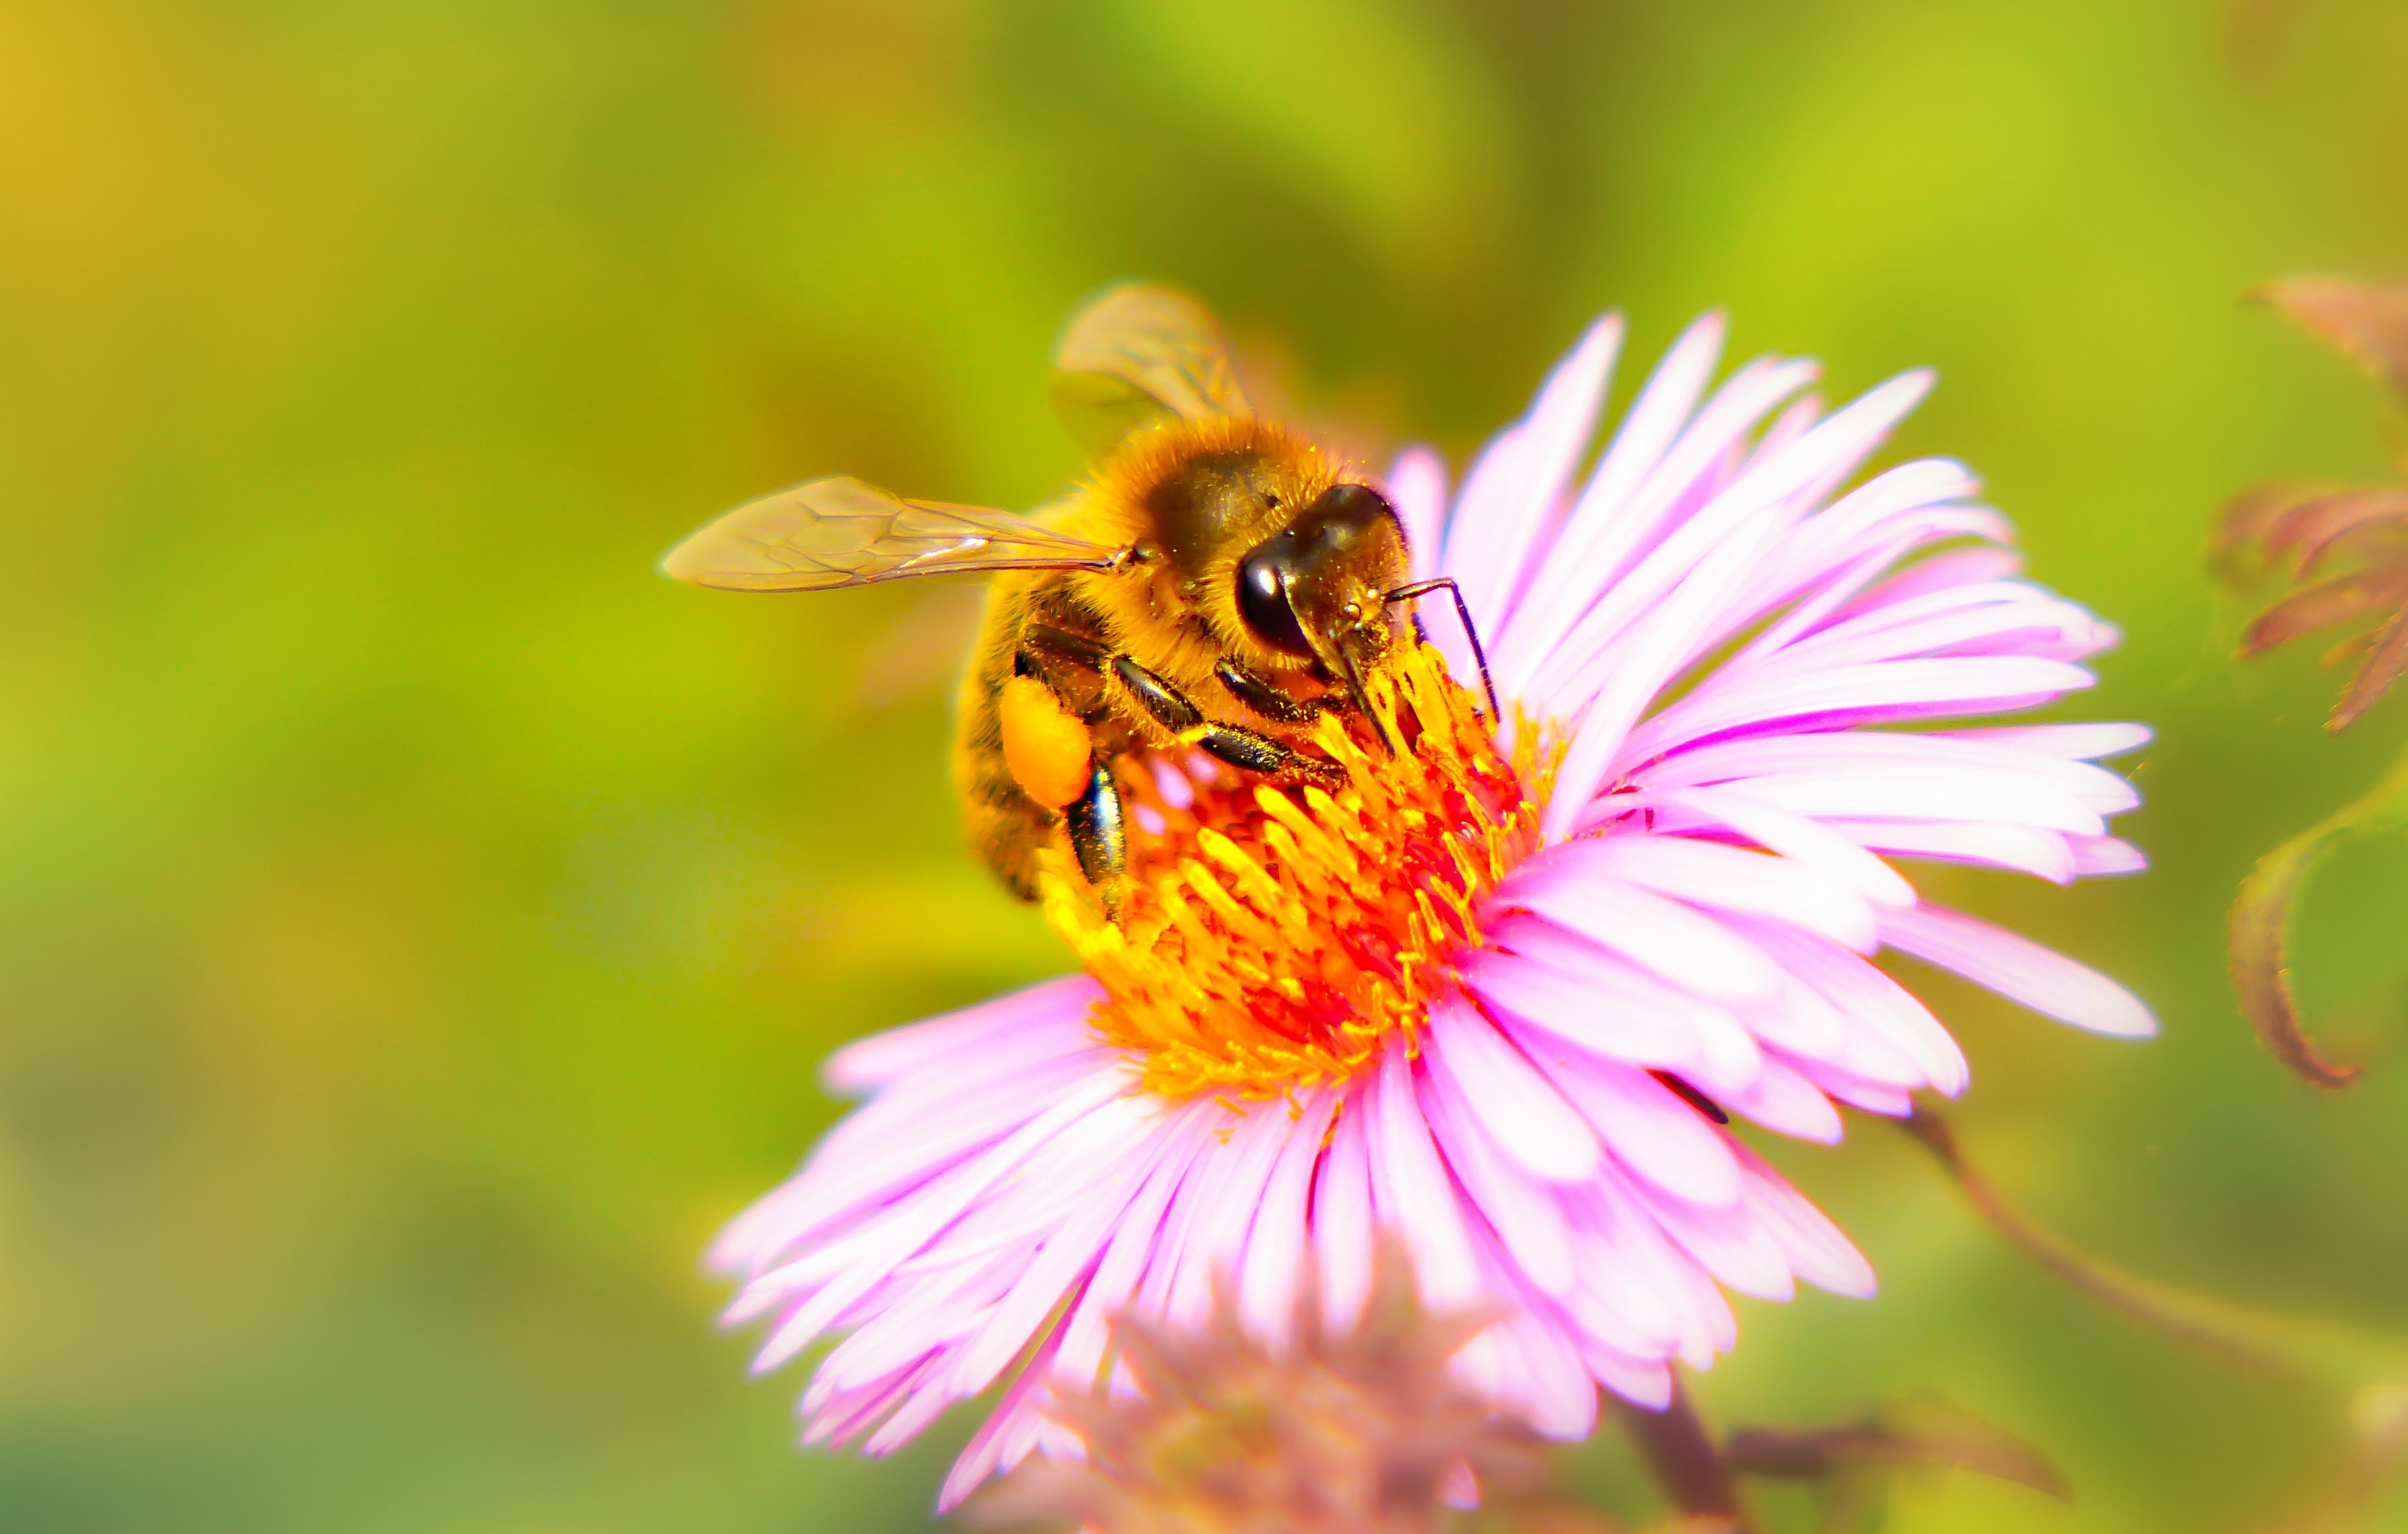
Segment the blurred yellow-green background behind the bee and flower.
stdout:
[[[2408,703],[2326,739],[2201,568],[2242,484],[2386,472],[2374,388],[2239,294],[2408,265],[2403,77],[2372,0],[0,2],[0,1527],[925,1527],[966,1423],[797,1455],[696,1250],[833,1043],[1064,963],[956,843],[970,592],[653,559],[833,470],[1047,496],[1050,337],[1127,275],[1457,460],[1606,306],[1618,400],[1707,306],[1837,395],[1936,364],[1898,453],[1987,474],[2126,631],[2081,713],[2160,730],[2153,874],[1938,879],[2165,1021],[1934,983],[1965,1141],[2133,1269],[2408,1329],[2398,840],[2302,918],[2357,1091],[2220,954]],[[1784,1163],[1885,1293],[1743,1303],[1705,1409],[1926,1392],[2078,1488],[1914,1476],[1893,1529],[2331,1483],[2338,1397],[2095,1310],[1895,1129]],[[1649,1512],[1613,1442],[1568,1476]]]

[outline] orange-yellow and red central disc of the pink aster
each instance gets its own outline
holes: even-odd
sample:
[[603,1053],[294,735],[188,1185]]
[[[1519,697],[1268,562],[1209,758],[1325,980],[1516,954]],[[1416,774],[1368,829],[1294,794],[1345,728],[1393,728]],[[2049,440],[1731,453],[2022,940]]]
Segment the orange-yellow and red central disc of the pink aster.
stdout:
[[1112,922],[1057,857],[1045,915],[1105,990],[1096,1028],[1165,1098],[1281,1098],[1413,1038],[1481,905],[1539,848],[1556,751],[1495,727],[1428,645],[1368,679],[1397,754],[1322,715],[1341,787],[1271,787],[1202,754],[1120,763],[1129,877]]

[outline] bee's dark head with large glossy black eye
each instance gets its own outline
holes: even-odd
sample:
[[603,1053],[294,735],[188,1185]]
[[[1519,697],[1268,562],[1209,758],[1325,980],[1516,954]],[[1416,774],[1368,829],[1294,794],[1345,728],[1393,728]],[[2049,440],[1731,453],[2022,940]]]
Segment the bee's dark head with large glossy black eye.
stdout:
[[1264,645],[1317,660],[1377,730],[1363,672],[1397,645],[1387,590],[1404,568],[1397,508],[1368,484],[1332,484],[1238,561],[1238,616]]

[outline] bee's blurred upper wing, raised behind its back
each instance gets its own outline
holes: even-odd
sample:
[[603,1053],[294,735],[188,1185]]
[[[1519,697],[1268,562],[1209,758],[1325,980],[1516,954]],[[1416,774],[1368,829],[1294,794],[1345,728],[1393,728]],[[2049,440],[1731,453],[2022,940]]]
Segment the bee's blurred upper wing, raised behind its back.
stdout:
[[1211,311],[1175,287],[1132,282],[1091,301],[1055,347],[1055,412],[1091,453],[1165,414],[1252,414]]

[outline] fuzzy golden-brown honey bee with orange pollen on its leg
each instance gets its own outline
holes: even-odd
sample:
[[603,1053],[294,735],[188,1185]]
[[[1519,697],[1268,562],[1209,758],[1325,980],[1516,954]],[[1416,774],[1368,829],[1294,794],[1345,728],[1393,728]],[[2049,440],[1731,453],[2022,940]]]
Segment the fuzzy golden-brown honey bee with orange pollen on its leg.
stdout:
[[[1052,397],[1093,453],[1031,515],[908,501],[836,477],[737,506],[662,573],[718,590],[833,590],[985,571],[954,783],[970,845],[1021,898],[1064,838],[1108,915],[1127,877],[1122,771],[1192,749],[1271,785],[1341,773],[1324,713],[1394,749],[1368,679],[1404,641],[1411,549],[1377,486],[1247,405],[1211,313],[1168,287],[1108,289],[1064,328]],[[1495,691],[1488,694],[1491,715]]]

